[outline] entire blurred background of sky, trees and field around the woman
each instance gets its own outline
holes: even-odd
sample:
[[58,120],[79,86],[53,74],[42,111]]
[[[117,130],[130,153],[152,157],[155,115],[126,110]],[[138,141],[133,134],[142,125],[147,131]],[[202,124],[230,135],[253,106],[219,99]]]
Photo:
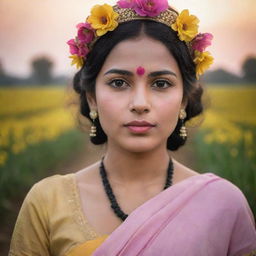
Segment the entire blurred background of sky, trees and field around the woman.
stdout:
[[[116,1],[97,1],[97,4]],[[191,120],[188,141],[171,153],[200,173],[237,185],[256,216],[256,1],[172,0],[213,34],[215,58],[202,77],[205,113]],[[77,119],[66,42],[95,0],[0,0],[0,254],[6,255],[24,196],[55,173],[98,160]],[[207,49],[208,50],[208,49]],[[79,121],[78,121],[79,120]],[[82,123],[79,126],[78,123]],[[83,128],[82,128],[83,127]]]

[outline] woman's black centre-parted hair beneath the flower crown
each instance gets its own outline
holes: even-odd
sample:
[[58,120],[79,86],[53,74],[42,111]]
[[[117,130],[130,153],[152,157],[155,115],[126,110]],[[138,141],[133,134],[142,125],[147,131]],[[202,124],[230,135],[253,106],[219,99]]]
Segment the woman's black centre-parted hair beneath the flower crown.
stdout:
[[[73,87],[80,95],[80,112],[89,120],[91,120],[89,116],[90,108],[86,93],[95,96],[96,78],[105,59],[118,43],[127,39],[137,38],[141,34],[162,42],[179,66],[183,79],[183,98],[187,100],[185,108],[187,117],[184,122],[202,113],[203,104],[201,98],[203,89],[196,80],[195,64],[186,43],[178,38],[175,31],[162,23],[151,20],[135,20],[119,24],[114,31],[107,32],[101,36],[87,55],[83,67],[74,76]],[[95,120],[95,126],[97,128],[97,136],[91,137],[91,142],[96,145],[104,144],[107,141],[107,135],[101,127],[99,118]],[[181,126],[182,120],[178,119],[174,131],[168,137],[167,149],[174,151],[185,144],[186,139],[179,135]]]

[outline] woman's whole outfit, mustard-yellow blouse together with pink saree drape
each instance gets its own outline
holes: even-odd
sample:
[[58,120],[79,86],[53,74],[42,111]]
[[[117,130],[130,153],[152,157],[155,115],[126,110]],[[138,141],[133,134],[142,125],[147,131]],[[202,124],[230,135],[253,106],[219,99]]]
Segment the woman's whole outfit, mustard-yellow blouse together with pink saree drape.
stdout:
[[[212,173],[192,176],[134,210],[101,236],[82,211],[75,174],[54,175],[27,194],[10,256],[255,255],[255,220],[241,190]],[[249,254],[251,253],[251,254]]]

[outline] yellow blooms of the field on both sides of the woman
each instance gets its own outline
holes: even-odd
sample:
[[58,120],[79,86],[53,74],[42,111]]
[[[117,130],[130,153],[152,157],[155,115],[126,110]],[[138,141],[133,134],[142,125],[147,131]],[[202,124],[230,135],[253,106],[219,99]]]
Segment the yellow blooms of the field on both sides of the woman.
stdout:
[[[74,129],[75,111],[68,105],[72,97],[74,93],[63,87],[0,89],[0,166],[8,152],[19,154],[29,145]],[[229,144],[230,154],[236,156],[235,145],[244,141],[246,153],[253,156],[256,88],[209,87],[204,98],[210,105],[203,116],[195,118],[203,118],[204,142]]]

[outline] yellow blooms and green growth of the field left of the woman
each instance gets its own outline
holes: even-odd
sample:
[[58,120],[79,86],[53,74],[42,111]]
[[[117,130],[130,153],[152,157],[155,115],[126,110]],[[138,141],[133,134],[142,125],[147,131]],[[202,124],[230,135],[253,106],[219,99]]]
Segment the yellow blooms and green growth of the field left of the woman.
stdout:
[[2,238],[12,232],[32,185],[60,174],[59,170],[73,171],[68,164],[84,150],[87,140],[76,128],[77,99],[70,90],[60,86],[0,88]]

